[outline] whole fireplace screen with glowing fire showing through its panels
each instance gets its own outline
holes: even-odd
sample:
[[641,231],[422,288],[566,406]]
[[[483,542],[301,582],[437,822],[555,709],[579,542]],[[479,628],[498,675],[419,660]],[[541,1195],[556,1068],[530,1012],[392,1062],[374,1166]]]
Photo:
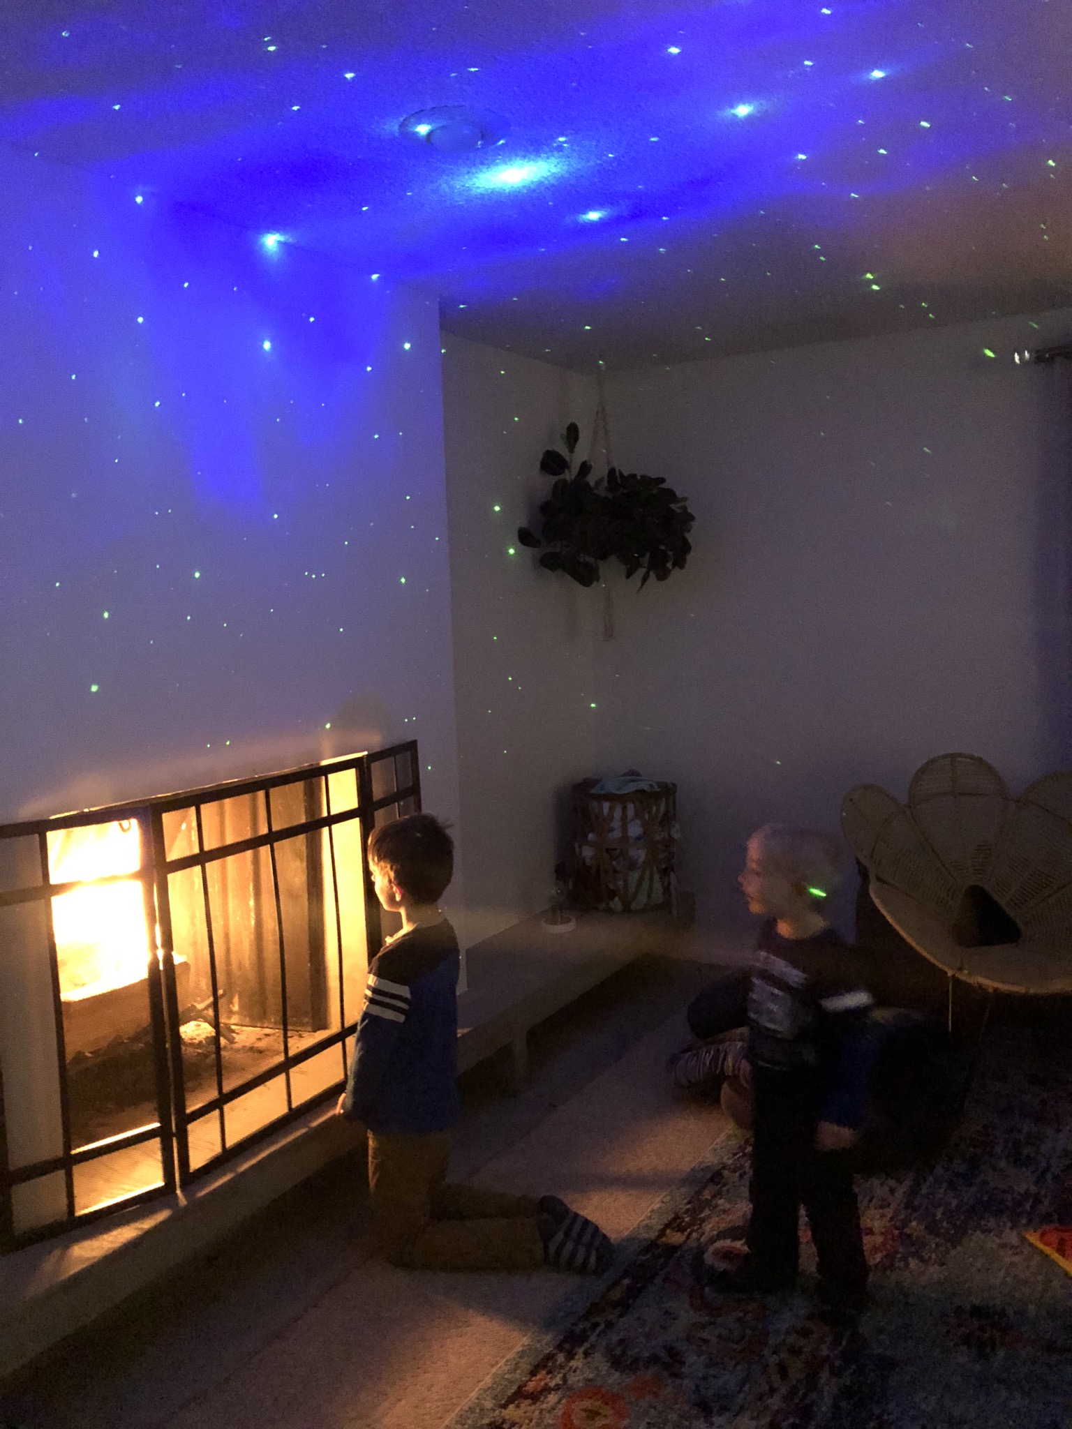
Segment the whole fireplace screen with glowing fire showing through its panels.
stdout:
[[406,743],[0,827],[0,1243],[337,1095],[392,917],[364,845],[419,807]]

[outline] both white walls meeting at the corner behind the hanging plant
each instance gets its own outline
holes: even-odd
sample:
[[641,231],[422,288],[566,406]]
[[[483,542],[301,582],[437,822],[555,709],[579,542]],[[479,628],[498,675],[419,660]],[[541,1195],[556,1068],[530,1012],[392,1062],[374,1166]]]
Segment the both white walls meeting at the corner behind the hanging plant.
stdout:
[[[542,447],[570,416],[586,446],[593,383],[445,339],[465,867],[483,930],[545,900],[566,827],[552,809],[586,773],[679,783],[682,882],[730,949],[750,936],[743,840],[768,819],[836,827],[855,783],[903,796],[946,750],[983,755],[1013,790],[1072,759],[1072,403],[1063,369],[1012,363],[1069,326],[1049,313],[613,374],[615,460],[665,476],[698,524],[667,584],[612,582],[609,643],[596,592],[506,554],[546,486]],[[850,926],[848,887],[835,913]]]

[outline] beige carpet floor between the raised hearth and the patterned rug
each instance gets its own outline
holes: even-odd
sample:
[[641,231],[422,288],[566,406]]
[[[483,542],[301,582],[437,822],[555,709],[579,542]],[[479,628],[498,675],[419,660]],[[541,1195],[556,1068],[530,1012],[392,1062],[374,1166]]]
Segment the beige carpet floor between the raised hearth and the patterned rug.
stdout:
[[[530,1035],[530,1082],[462,1079],[452,1176],[556,1192],[615,1240],[725,1127],[663,1066],[710,966],[645,957]],[[372,1258],[356,1155],[0,1385],[0,1429],[442,1429],[592,1282],[400,1270]]]

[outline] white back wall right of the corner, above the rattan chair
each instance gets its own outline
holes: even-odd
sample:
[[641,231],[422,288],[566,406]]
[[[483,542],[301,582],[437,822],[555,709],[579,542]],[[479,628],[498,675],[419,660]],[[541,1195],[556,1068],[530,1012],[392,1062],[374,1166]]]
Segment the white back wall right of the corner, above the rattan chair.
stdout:
[[1012,352],[1072,312],[1036,323],[612,377],[615,459],[696,527],[685,572],[616,594],[599,767],[679,782],[703,922],[736,926],[768,819],[836,827],[850,786],[903,797],[949,750],[1015,790],[1068,765],[1068,370]]

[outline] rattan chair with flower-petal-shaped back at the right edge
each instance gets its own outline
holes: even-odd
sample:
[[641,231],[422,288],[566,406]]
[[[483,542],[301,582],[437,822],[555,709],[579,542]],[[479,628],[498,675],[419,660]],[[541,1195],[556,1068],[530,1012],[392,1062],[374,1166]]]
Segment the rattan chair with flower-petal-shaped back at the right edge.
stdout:
[[908,802],[858,785],[849,847],[893,927],[951,979],[1012,993],[1072,993],[1072,772],[1015,799],[976,755],[939,755]]

